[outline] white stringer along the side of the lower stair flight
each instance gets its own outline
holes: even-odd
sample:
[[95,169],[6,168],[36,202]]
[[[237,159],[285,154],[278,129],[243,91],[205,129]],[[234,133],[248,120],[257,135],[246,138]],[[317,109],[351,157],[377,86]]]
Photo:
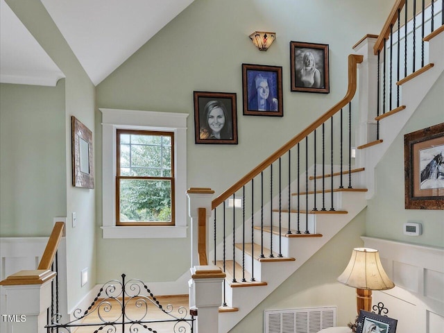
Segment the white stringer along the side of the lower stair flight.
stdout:
[[[250,311],[270,295],[291,274],[296,272],[302,264],[330,241],[345,225],[355,218],[367,205],[366,192],[342,192],[342,200],[347,203],[348,214],[317,214],[317,232],[323,237],[290,238],[289,254],[295,257],[293,262],[257,262],[255,260],[255,275],[260,276],[261,281],[267,282],[261,287],[231,288],[225,285],[227,303],[237,307],[239,311],[219,313],[219,333],[229,332]],[[250,259],[250,258],[248,258]],[[249,260],[250,261],[250,260]],[[257,271],[257,270],[260,271]],[[276,274],[276,272],[279,274]],[[225,282],[226,283],[226,282]]]

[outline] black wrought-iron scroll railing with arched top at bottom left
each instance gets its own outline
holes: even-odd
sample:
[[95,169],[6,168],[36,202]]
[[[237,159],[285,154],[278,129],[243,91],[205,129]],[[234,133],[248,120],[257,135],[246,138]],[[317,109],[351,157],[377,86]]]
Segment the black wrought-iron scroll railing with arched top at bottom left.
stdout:
[[110,280],[103,284],[94,301],[86,310],[76,309],[74,321],[60,323],[60,314],[53,314],[46,325],[46,332],[72,332],[83,327],[82,332],[173,332],[192,333],[194,315],[188,317],[185,307],[173,309],[162,306],[141,280]]

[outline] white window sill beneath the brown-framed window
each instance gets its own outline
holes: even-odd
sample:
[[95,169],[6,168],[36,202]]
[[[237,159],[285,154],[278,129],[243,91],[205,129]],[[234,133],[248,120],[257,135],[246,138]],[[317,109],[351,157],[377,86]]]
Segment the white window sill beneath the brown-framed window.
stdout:
[[104,239],[114,238],[186,238],[187,226],[112,226],[101,227]]

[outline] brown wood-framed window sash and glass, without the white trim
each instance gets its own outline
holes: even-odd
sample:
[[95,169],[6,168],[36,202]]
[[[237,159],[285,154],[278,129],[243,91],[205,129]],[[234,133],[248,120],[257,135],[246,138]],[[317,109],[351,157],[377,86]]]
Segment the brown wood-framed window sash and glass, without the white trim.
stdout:
[[117,130],[116,225],[174,225],[174,133]]

